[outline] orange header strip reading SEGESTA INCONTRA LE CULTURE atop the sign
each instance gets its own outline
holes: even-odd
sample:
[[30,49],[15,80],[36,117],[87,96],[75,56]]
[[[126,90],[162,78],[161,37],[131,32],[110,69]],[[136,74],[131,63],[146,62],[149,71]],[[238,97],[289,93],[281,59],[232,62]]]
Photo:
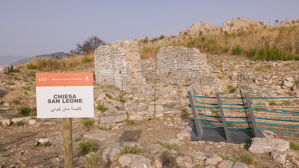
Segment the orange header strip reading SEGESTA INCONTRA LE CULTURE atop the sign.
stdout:
[[36,86],[93,86],[93,73],[36,73]]

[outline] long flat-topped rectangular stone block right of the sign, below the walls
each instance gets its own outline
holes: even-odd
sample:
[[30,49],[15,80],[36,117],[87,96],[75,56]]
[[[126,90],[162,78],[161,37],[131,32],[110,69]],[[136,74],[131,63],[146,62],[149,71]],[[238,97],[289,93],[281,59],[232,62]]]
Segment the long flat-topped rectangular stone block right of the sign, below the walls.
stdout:
[[125,121],[128,118],[126,113],[113,113],[113,114],[101,114],[99,116],[99,122],[101,124],[109,124]]

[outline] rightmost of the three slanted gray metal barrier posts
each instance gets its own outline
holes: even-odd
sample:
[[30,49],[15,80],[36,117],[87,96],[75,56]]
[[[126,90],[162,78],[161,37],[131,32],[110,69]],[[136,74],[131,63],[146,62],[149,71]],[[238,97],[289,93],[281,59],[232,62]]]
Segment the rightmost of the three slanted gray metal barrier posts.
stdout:
[[259,133],[257,132],[257,124],[255,123],[249,94],[244,89],[240,89],[240,93],[241,93],[241,97],[243,97],[242,102],[243,102],[243,104],[245,104],[244,107],[248,107],[248,109],[245,109],[245,113],[246,113],[246,116],[248,117],[247,122],[251,122],[251,123],[248,123],[248,126],[252,128],[252,129],[250,129],[250,131],[254,137],[261,137],[259,135]]

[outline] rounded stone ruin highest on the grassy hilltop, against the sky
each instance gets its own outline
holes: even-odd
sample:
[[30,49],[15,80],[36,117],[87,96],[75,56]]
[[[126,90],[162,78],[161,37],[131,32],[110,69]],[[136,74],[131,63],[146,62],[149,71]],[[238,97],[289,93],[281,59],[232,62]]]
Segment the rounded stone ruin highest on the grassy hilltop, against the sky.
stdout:
[[223,23],[223,31],[242,31],[250,27],[260,27],[261,24],[248,18],[237,18],[225,21]]

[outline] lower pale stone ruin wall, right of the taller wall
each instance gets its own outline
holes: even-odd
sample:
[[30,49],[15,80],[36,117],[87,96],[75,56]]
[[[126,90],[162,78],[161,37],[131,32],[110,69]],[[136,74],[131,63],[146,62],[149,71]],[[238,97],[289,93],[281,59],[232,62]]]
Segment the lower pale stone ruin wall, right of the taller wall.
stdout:
[[162,47],[157,53],[157,74],[162,81],[198,82],[201,78],[205,85],[218,84],[216,75],[210,76],[212,67],[207,57],[196,48]]

